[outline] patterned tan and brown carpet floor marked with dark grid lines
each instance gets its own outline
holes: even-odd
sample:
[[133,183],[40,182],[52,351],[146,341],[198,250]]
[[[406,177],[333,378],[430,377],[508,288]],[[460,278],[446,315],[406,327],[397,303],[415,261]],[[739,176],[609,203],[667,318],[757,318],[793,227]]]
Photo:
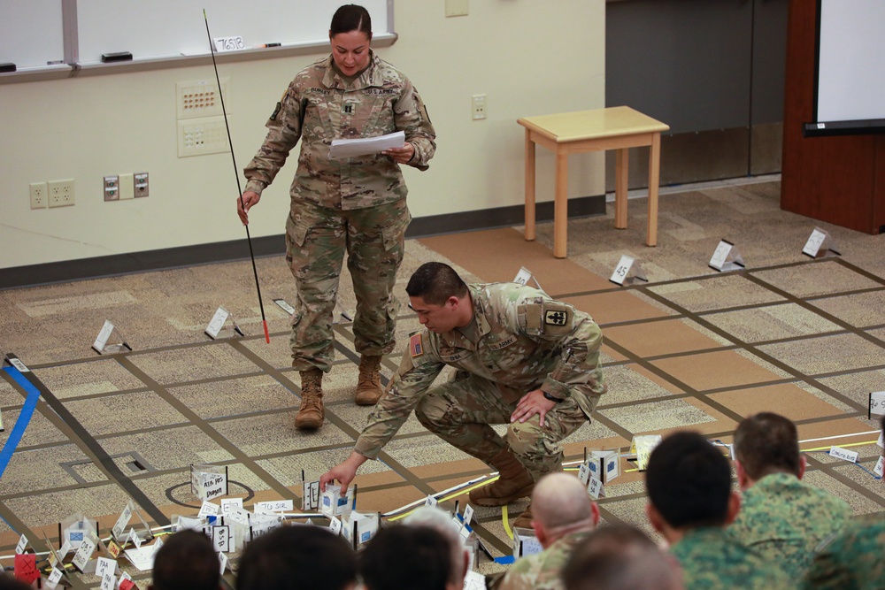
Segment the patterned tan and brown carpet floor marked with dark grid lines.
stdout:
[[[551,256],[550,224],[538,226],[534,242],[519,227],[408,241],[397,284],[398,342],[419,326],[404,293],[419,264],[448,262],[481,282],[512,280],[525,266],[604,331],[609,393],[592,423],[566,441],[566,460],[579,460],[584,448],[626,452],[635,434],[680,428],[728,442],[741,418],[773,410],[794,419],[807,441],[808,481],[858,514],[885,510],[881,482],[860,468],[872,471],[881,451],[866,404],[869,392],[885,389],[885,238],[781,211],[779,193],[777,180],[671,190],[661,196],[657,248],[643,245],[643,199],[631,200],[627,230],[614,229],[611,206],[604,217],[570,220],[564,260]],[[840,257],[801,254],[815,226],[833,236]],[[720,239],[735,243],[746,270],[707,265]],[[648,283],[608,281],[625,254],[642,264]],[[289,365],[289,315],[273,303],[293,300],[293,282],[282,257],[259,259],[258,276],[269,345],[248,261],[0,291],[0,348],[45,386],[0,479],[4,556],[21,533],[43,550],[42,534],[57,539],[58,522],[77,511],[98,518],[106,535],[129,499],[154,525],[196,515],[190,464],[227,465],[231,497],[247,507],[277,499],[297,507],[302,470],[316,479],[347,456],[370,410],[350,401],[358,356],[350,322],[338,316],[354,307],[350,277],[342,277],[337,357],[324,381],[327,423],[301,433],[293,427],[299,388]],[[244,337],[204,334],[219,306]],[[90,349],[106,319],[131,352]],[[385,377],[399,350],[385,359]],[[5,443],[27,391],[2,375]],[[830,445],[857,451],[860,466],[827,456]],[[621,467],[634,469],[626,460]],[[358,509],[396,510],[488,471],[412,417],[381,460],[360,471]],[[451,508],[454,498],[443,503]],[[644,504],[642,474],[629,471],[606,487],[600,508],[607,522],[649,530]],[[509,517],[525,505],[510,506]],[[476,518],[491,554],[509,553],[502,510],[477,508]],[[140,585],[150,577],[119,564]],[[481,562],[481,571],[501,567]],[[72,584],[96,587],[98,579],[78,575]]]

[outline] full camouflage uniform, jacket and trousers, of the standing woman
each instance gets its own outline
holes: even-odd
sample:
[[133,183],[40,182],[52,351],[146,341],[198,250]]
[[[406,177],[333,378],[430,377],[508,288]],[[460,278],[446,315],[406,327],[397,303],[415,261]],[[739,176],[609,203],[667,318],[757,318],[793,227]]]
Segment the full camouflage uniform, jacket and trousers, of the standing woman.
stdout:
[[366,71],[348,84],[330,56],[298,73],[267,127],[264,144],[244,171],[247,191],[260,195],[301,140],[286,222],[286,258],[298,291],[292,366],[326,372],[332,366],[332,311],[345,249],[357,296],[357,351],[389,353],[398,310],[391,292],[411,219],[403,172],[381,154],[330,160],[328,152],[333,139],[401,130],[415,149],[409,165],[427,170],[436,135],[418,91],[374,53]]

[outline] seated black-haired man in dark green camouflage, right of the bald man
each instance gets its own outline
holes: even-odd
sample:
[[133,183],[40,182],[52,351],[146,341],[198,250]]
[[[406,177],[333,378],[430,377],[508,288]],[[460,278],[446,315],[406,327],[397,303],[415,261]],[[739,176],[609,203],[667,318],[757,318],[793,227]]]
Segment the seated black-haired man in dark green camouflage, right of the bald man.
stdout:
[[661,441],[651,451],[645,489],[649,521],[670,543],[687,590],[797,587],[726,532],[741,496],[731,489],[728,460],[700,434],[679,432]]

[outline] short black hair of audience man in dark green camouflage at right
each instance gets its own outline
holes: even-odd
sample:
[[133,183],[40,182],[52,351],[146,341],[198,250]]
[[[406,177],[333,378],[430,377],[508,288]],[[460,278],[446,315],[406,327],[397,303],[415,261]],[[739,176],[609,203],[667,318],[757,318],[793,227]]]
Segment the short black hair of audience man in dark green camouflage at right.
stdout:
[[645,489],[651,505],[674,528],[722,526],[728,517],[731,467],[700,434],[673,433],[651,451]]

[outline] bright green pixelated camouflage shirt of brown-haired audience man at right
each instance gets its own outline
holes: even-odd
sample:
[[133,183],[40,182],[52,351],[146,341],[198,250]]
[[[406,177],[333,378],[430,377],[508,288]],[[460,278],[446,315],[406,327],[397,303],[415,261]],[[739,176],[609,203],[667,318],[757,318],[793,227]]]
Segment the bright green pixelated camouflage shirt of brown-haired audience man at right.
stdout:
[[743,493],[728,533],[799,579],[812,564],[814,548],[851,514],[850,506],[834,495],[790,473],[773,473]]

